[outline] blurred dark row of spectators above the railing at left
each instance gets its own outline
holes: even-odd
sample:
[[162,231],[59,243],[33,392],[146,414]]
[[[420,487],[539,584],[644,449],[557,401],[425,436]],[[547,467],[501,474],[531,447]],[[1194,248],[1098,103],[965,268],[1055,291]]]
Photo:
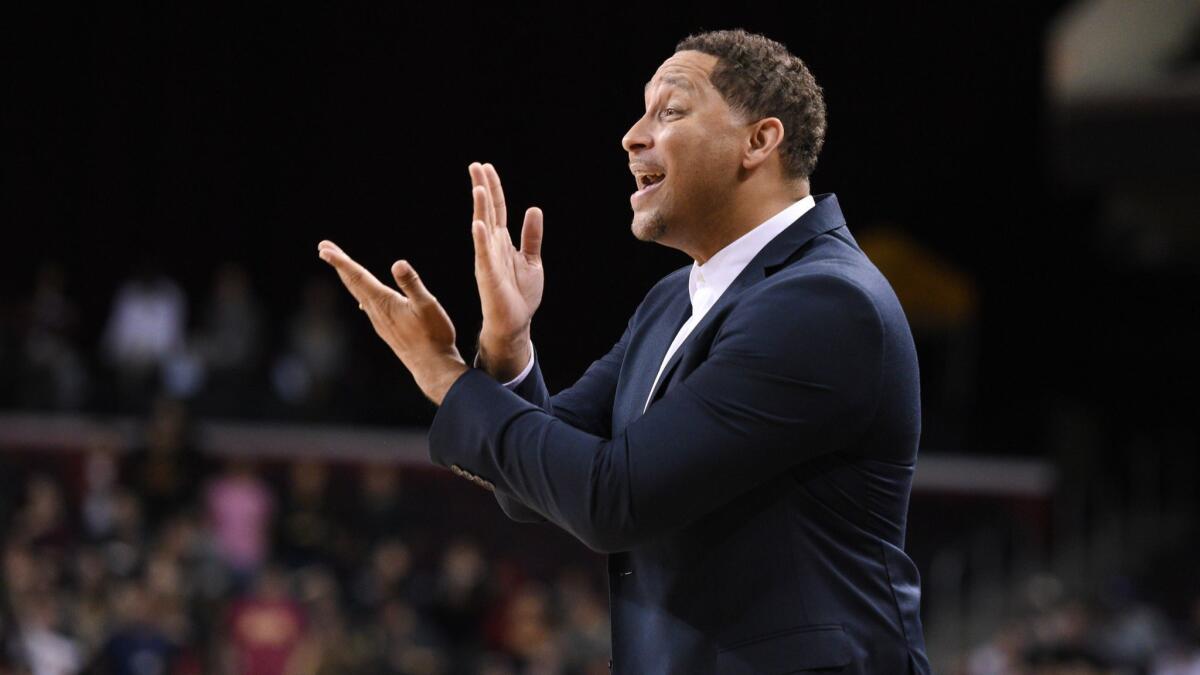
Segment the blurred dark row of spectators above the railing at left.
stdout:
[[44,263],[26,300],[0,315],[0,365],[16,375],[0,388],[4,407],[137,414],[160,393],[222,417],[330,419],[361,407],[344,387],[355,359],[343,298],[324,276],[270,316],[236,263],[217,268],[197,301],[145,262],[103,317],[85,315],[78,282]]

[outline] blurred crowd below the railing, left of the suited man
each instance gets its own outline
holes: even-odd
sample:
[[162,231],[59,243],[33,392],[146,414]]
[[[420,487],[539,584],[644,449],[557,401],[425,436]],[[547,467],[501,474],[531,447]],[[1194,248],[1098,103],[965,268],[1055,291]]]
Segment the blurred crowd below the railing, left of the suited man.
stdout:
[[0,455],[0,673],[608,673],[595,571],[433,532],[395,466],[217,460],[187,420],[161,399],[128,452]]

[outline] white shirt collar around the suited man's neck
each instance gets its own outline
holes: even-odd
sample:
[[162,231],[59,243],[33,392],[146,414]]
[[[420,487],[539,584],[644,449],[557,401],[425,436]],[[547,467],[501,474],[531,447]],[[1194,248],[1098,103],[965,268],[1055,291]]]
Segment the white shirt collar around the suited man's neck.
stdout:
[[708,258],[704,264],[694,262],[691,274],[688,276],[688,295],[691,298],[692,313],[707,311],[758,255],[758,251],[814,205],[816,201],[809,195],[738,237]]

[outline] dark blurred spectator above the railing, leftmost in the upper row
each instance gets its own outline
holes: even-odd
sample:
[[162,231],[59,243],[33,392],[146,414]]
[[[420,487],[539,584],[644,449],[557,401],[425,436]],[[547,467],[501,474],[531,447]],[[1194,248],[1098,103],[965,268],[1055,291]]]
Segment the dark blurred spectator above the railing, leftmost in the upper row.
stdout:
[[83,405],[89,377],[76,342],[78,325],[79,310],[66,294],[62,268],[43,263],[25,324],[17,388],[20,405],[55,410]]

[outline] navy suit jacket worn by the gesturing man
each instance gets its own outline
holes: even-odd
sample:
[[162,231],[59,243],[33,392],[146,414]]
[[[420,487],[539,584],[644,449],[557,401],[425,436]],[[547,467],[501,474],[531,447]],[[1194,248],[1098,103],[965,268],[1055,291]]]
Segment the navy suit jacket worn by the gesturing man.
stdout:
[[[917,357],[838,198],[773,239],[676,351],[688,269],[569,389],[469,370],[434,462],[608,555],[620,674],[929,673],[904,552]],[[647,398],[652,398],[643,413]]]

